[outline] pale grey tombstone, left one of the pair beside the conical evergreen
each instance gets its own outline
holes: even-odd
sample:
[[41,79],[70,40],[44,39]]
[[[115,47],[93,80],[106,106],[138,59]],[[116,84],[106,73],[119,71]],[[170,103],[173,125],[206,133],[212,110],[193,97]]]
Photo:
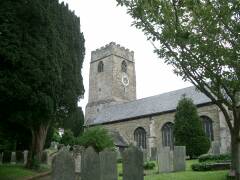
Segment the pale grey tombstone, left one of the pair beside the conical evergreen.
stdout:
[[173,151],[170,147],[163,147],[158,154],[158,170],[161,173],[173,171]]

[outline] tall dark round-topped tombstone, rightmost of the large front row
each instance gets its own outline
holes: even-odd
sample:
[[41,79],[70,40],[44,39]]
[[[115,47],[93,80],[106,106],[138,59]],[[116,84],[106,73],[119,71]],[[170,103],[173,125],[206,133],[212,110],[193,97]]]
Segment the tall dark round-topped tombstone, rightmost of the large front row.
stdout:
[[130,146],[123,152],[123,180],[143,180],[143,153]]

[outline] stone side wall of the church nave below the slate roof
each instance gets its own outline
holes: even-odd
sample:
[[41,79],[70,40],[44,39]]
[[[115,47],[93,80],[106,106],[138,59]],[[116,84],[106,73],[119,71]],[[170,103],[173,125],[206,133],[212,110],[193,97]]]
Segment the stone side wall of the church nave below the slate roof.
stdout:
[[[219,120],[219,110],[215,105],[208,105],[198,108],[198,113],[200,116],[208,116],[213,121],[213,132],[214,132],[214,146],[220,148],[221,153],[225,153],[227,149],[225,144],[221,143],[223,135],[221,135],[220,120]],[[161,148],[162,147],[162,127],[167,122],[174,122],[175,112],[166,113],[162,115],[149,116],[134,120],[120,121],[112,124],[103,125],[104,128],[109,130],[118,131],[120,135],[129,143],[134,144],[134,131],[138,127],[143,127],[147,132],[147,152],[150,157],[151,148]],[[222,125],[221,125],[222,126]],[[227,133],[226,133],[227,134]],[[216,150],[216,149],[215,149]],[[210,149],[212,152],[212,149]]]

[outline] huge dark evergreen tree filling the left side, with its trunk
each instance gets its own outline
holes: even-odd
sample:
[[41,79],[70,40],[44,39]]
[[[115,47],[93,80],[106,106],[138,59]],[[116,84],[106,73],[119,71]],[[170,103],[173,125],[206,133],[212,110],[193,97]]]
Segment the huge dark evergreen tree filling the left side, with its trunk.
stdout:
[[77,108],[84,52],[79,18],[68,6],[1,1],[0,119],[30,129],[29,167],[40,160],[49,126]]

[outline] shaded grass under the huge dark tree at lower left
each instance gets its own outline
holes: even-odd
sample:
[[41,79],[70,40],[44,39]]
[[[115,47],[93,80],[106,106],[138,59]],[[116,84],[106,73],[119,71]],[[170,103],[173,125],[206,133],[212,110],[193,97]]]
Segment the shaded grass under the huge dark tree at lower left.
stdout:
[[23,165],[2,164],[0,165],[0,179],[21,180],[47,170],[49,170],[49,168],[46,166],[42,166],[39,171],[33,171],[26,169]]

